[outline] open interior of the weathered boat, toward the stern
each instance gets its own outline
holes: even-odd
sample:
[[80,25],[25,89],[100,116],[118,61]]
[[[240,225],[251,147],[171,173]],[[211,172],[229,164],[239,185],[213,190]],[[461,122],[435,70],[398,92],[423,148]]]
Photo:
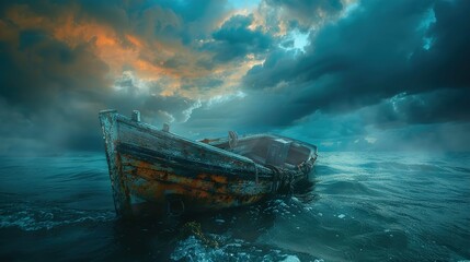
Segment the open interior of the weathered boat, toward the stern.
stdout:
[[261,165],[295,169],[314,153],[312,148],[296,141],[273,135],[252,135],[238,139],[229,132],[228,140],[203,140],[221,150],[245,156]]

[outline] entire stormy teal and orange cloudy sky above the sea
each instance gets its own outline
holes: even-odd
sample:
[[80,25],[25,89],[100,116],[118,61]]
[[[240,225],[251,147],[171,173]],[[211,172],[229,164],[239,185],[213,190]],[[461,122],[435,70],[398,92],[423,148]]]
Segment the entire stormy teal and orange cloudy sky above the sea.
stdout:
[[191,138],[470,151],[468,0],[2,1],[0,154],[101,151],[101,109]]

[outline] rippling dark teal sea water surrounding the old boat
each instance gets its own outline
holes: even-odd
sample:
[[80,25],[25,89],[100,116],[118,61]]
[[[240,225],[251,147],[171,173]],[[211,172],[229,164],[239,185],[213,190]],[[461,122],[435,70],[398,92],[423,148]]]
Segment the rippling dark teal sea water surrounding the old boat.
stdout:
[[468,261],[470,154],[322,153],[256,205],[116,219],[104,154],[0,158],[0,261]]

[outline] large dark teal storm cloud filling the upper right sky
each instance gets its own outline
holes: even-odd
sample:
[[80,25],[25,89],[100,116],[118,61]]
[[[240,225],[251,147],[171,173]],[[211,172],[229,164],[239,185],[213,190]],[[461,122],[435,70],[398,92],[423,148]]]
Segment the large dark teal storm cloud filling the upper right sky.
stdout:
[[[435,22],[420,28],[429,10]],[[468,11],[468,1],[363,1],[359,10],[312,36],[306,53],[271,52],[244,83],[267,96],[286,95],[277,100],[285,106],[264,112],[283,119],[266,124],[288,124],[316,110],[349,111],[403,92],[468,88],[463,71],[470,56],[462,49],[470,40]],[[433,38],[428,49],[425,37]]]

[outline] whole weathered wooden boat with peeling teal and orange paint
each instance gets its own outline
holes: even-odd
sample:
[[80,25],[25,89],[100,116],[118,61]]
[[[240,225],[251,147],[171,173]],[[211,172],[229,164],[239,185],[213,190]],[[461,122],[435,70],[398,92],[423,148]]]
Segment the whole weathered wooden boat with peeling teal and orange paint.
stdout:
[[248,205],[306,179],[317,146],[272,134],[192,141],[116,110],[100,111],[116,213]]

